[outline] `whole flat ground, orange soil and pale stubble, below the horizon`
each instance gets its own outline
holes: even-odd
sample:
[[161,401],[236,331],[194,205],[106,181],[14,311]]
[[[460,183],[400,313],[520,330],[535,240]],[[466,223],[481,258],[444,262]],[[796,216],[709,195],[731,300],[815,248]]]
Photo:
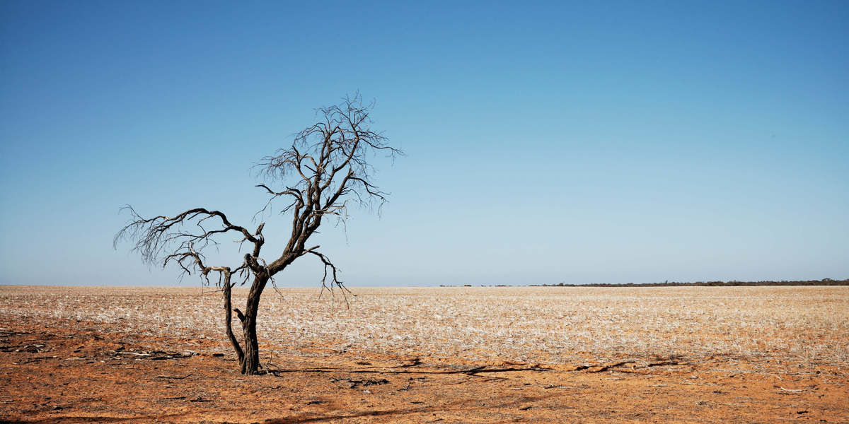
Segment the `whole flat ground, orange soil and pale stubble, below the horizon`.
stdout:
[[0,421],[849,422],[849,287],[352,290],[0,287]]

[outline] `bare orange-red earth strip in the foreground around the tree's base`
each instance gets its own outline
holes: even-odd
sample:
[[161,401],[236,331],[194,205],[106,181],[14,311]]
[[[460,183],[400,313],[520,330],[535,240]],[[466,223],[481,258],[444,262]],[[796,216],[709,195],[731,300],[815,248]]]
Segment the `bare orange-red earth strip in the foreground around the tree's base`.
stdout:
[[5,312],[6,423],[849,422],[842,364],[724,355],[537,364],[313,345],[278,351],[266,375],[245,377],[214,338]]

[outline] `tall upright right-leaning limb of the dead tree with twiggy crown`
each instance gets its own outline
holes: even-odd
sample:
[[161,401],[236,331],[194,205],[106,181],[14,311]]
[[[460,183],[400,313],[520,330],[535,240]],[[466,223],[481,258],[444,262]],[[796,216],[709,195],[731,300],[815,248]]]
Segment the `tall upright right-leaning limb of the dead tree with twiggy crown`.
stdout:
[[339,105],[318,109],[322,122],[299,132],[290,148],[278,150],[258,165],[268,180],[288,181],[279,192],[266,184],[257,186],[270,195],[258,214],[274,199],[284,196],[290,198],[290,203],[283,212],[292,213],[290,241],[283,254],[269,265],[269,274],[274,275],[305,254],[306,240],[318,230],[325,216],[345,220],[351,203],[364,207],[377,204],[379,210],[385,203],[388,193],[372,182],[374,169],[368,160],[378,152],[392,158],[403,152],[371,130],[368,115],[373,106],[363,105],[357,94]]

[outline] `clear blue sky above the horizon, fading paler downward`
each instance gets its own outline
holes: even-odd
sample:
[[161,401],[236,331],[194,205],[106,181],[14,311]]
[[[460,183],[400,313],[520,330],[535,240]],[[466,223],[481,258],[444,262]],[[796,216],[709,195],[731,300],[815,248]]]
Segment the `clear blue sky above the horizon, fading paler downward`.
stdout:
[[176,283],[121,205],[256,226],[251,165],[357,91],[408,155],[318,237],[351,287],[849,277],[844,1],[4,1],[0,283]]

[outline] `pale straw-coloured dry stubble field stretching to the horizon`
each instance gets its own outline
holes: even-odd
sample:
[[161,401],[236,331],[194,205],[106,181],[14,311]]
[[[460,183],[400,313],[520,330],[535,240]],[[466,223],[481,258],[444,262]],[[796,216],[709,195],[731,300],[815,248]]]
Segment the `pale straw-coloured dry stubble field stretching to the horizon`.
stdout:
[[[369,351],[570,363],[725,356],[849,365],[849,287],[411,287],[267,291],[266,353]],[[236,293],[239,303],[244,291]],[[200,287],[0,287],[0,316],[221,340],[222,302]],[[73,321],[65,322],[70,325]]]

